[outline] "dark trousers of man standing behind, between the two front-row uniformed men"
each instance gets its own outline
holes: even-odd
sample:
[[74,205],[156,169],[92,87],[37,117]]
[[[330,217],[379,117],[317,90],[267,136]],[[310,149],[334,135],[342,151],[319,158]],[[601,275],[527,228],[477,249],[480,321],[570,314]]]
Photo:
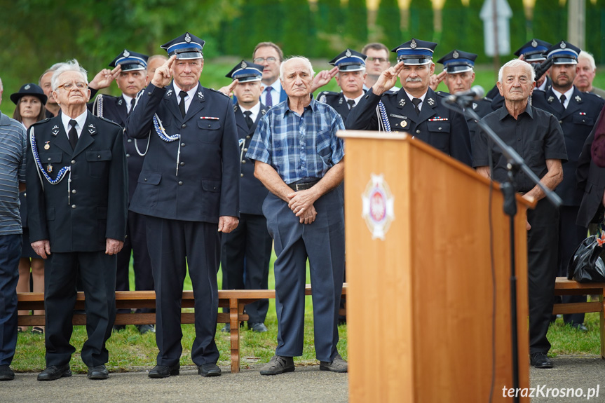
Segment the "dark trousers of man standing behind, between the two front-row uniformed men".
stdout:
[[[147,250],[147,229],[145,216],[128,212],[126,238],[124,247],[118,253],[118,271],[116,275],[116,291],[130,290],[130,254],[134,259],[132,267],[135,270],[135,289],[137,291],[154,289],[154,275],[151,273],[151,259]],[[154,312],[152,308],[140,308],[137,312]],[[118,309],[118,313],[129,313],[130,309]]]

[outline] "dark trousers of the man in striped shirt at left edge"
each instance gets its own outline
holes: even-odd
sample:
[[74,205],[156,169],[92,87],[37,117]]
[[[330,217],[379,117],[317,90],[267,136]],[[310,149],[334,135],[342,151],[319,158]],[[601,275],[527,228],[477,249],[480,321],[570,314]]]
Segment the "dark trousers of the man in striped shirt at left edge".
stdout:
[[23,237],[0,235],[0,365],[9,365],[17,346],[17,282]]

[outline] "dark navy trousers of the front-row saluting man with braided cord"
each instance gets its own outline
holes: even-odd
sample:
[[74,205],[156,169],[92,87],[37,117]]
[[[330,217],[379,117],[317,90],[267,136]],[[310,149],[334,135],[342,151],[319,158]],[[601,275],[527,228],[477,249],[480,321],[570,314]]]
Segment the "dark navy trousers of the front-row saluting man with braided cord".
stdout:
[[196,365],[215,363],[219,360],[215,343],[221,251],[218,226],[151,216],[146,217],[146,222],[156,289],[158,365],[175,365],[181,357],[181,301],[188,265],[196,315],[196,339],[191,348],[191,359]]

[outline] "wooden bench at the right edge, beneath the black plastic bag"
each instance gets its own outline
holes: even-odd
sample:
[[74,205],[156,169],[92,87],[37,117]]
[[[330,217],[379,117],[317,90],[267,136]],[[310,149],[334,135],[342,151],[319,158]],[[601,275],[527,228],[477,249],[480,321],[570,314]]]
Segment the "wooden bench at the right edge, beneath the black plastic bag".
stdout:
[[567,280],[566,277],[557,277],[555,282],[555,295],[598,295],[599,301],[555,303],[552,308],[553,315],[567,313],[599,313],[599,327],[601,333],[601,358],[605,359],[605,282],[577,282]]

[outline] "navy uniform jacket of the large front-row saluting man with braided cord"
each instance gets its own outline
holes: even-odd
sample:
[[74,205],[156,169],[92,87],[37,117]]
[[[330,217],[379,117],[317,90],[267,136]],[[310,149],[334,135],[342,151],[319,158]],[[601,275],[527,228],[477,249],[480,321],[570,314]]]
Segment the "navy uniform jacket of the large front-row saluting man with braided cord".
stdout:
[[[211,223],[221,216],[239,217],[240,148],[231,100],[198,84],[183,118],[177,98],[172,83],[165,88],[150,84],[128,115],[126,134],[149,137],[130,210]],[[159,137],[154,114],[167,135],[180,138],[166,142]]]

